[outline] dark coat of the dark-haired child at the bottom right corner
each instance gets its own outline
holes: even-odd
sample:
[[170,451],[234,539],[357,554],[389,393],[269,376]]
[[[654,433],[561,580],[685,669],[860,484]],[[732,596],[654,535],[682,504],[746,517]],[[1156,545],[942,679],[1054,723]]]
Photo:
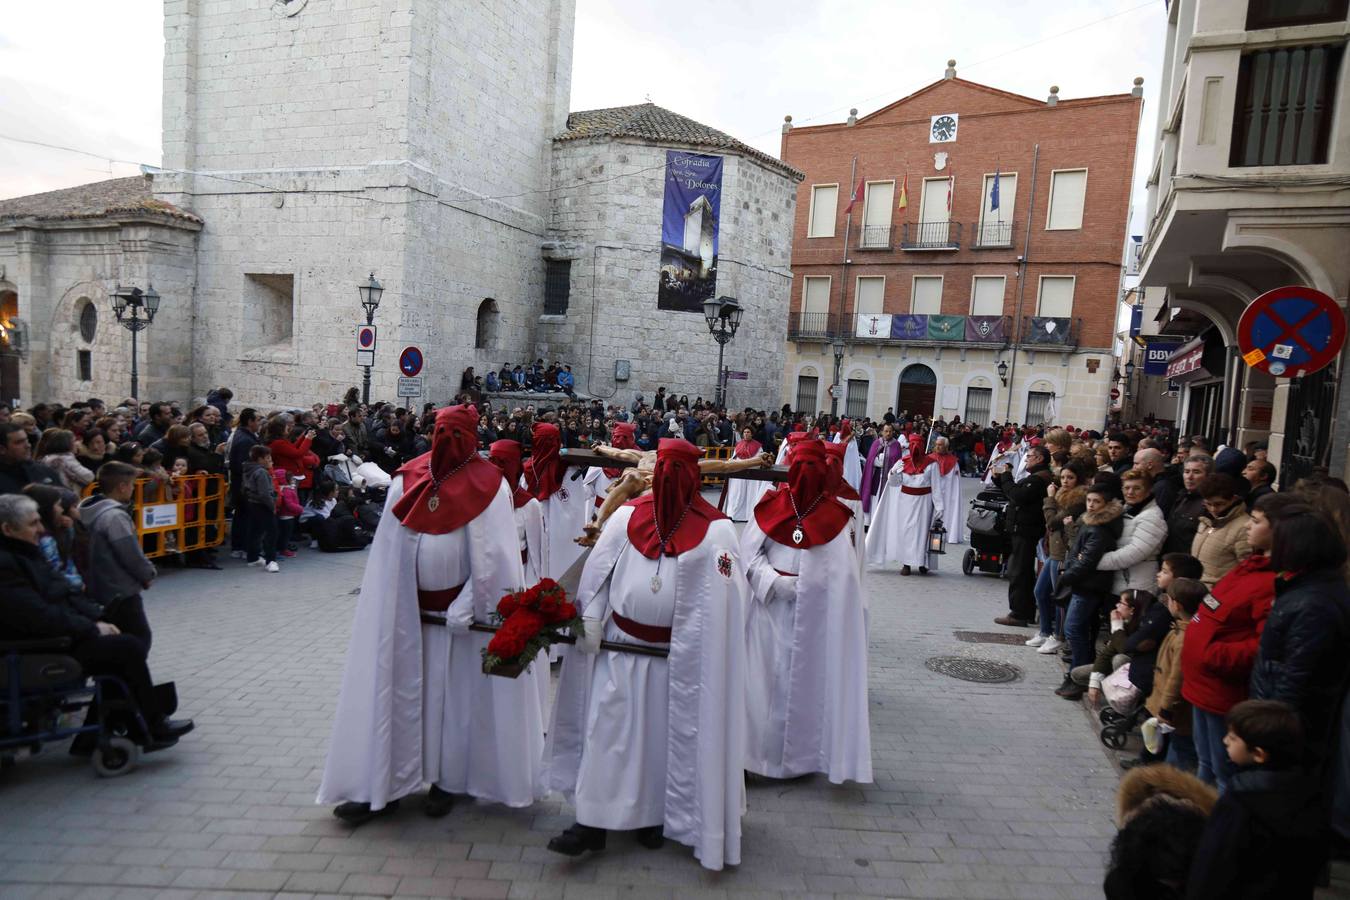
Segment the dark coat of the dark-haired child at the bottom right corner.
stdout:
[[1299,769],[1237,772],[1210,814],[1187,900],[1312,897],[1326,858],[1318,783]]

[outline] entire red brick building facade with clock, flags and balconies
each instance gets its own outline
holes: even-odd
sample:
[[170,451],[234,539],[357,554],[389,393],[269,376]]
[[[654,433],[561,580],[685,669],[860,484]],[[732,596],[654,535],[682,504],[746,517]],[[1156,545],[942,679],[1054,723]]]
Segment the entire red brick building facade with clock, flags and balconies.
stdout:
[[841,414],[1034,422],[1053,402],[1057,421],[1100,426],[1139,84],[1041,101],[957,78],[949,63],[941,81],[868,116],[788,119],[782,158],[806,173],[790,402],[828,410],[838,383]]

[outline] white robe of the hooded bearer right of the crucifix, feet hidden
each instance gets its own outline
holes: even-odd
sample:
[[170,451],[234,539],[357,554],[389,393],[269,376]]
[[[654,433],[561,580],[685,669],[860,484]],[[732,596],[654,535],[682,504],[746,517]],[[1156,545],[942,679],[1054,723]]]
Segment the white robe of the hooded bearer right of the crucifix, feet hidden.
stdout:
[[741,534],[752,591],[745,613],[749,772],[872,781],[867,613],[852,530],[849,522],[810,549],[779,544],[753,518]]

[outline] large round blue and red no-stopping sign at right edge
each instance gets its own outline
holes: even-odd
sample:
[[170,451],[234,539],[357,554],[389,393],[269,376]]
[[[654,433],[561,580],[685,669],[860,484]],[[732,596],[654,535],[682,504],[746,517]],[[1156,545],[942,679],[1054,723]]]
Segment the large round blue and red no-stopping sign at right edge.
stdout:
[[1269,375],[1299,378],[1328,366],[1346,343],[1346,316],[1312,287],[1276,287],[1242,310],[1242,362]]

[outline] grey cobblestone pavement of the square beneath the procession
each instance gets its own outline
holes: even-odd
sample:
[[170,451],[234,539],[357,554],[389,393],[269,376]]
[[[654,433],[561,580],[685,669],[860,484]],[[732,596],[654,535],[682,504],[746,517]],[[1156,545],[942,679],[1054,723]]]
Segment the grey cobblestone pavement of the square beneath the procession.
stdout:
[[[1114,754],[1052,694],[1056,661],[954,640],[1013,630],[991,623],[1004,583],[953,549],[936,576],[868,584],[876,784],[752,785],[744,861],[721,873],[626,835],[564,861],[544,849],[571,822],[556,799],[439,820],[413,799],[348,830],[315,792],[364,553],[170,572],[147,595],[153,671],[197,730],[122,779],[51,749],[0,776],[0,897],[1100,896]],[[959,681],[925,668],[938,654],[1022,676]]]

